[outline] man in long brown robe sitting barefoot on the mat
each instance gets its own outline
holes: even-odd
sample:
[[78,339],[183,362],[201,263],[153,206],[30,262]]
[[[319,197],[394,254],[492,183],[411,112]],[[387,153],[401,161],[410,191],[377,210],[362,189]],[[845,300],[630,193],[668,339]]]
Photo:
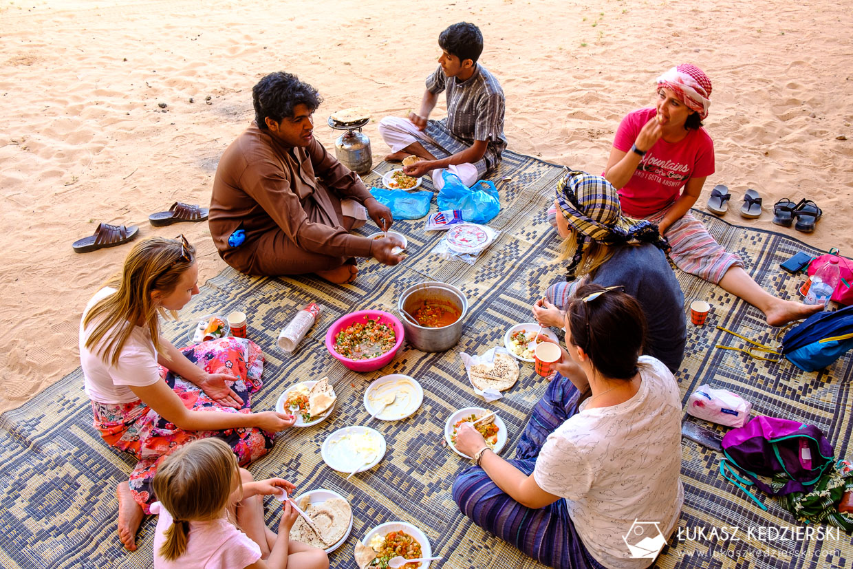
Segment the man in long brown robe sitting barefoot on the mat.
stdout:
[[361,179],[312,135],[321,101],[313,87],[290,73],[270,73],[252,88],[255,122],[219,160],[208,219],[219,256],[236,270],[315,273],[345,283],[357,275],[355,257],[384,264],[403,260],[392,253],[403,245],[394,237],[349,235],[362,206],[379,227],[388,229],[393,220]]

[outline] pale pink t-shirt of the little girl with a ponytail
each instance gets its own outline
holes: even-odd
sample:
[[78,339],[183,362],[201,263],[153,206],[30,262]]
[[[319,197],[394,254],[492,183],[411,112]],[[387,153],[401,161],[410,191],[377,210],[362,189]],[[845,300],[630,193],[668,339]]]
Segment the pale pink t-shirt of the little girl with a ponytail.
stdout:
[[154,532],[154,569],[242,569],[261,558],[261,549],[251,537],[224,518],[189,522],[187,550],[176,560],[165,560],[160,548],[171,514],[160,502],[151,504],[151,513],[160,514]]

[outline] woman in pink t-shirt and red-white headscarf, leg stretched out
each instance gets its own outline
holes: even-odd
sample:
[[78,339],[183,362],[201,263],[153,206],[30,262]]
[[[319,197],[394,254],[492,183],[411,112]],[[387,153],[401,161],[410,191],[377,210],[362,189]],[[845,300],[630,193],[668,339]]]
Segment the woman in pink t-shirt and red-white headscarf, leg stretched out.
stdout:
[[820,307],[779,299],[759,287],[743,261],[690,214],[714,172],[714,144],[702,128],[710,96],[711,80],[698,67],[680,65],[661,75],[655,107],[633,111],[619,125],[605,177],[619,190],[625,213],[658,224],[679,269],[756,306],[771,326],[809,316]]

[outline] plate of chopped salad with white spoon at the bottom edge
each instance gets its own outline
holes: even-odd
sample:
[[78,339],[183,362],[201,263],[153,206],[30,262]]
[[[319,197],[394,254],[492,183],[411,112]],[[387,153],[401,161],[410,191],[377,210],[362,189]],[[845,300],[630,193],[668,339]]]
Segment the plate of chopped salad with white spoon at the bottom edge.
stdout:
[[[404,521],[389,521],[374,527],[356,543],[359,569],[385,569],[397,555],[406,559],[432,557],[432,548],[424,532]],[[430,561],[406,563],[401,569],[429,569]]]

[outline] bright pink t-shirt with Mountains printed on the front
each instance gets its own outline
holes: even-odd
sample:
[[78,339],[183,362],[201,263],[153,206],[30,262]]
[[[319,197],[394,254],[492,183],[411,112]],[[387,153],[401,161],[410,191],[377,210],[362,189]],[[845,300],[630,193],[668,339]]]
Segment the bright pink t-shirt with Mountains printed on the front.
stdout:
[[[613,148],[630,152],[636,137],[649,119],[654,107],[641,108],[625,115],[613,139]],[[704,128],[688,130],[679,142],[661,138],[649,149],[634,175],[619,190],[622,211],[632,218],[645,218],[668,207],[681,194],[691,177],[714,173],[714,142]]]

